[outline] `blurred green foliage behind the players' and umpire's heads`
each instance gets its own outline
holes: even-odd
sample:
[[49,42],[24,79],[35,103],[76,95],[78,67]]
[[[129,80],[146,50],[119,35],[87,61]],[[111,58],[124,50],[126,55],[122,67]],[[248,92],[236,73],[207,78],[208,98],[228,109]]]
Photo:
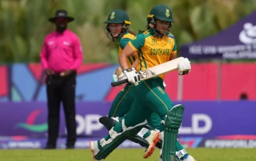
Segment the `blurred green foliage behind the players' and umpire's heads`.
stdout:
[[75,17],[68,28],[80,37],[84,62],[117,62],[118,48],[103,31],[109,12],[126,10],[131,30],[138,33],[145,30],[151,8],[160,3],[173,10],[171,31],[178,47],[218,33],[256,7],[254,0],[1,0],[0,62],[39,62],[45,35],[55,27],[48,19],[58,9]]

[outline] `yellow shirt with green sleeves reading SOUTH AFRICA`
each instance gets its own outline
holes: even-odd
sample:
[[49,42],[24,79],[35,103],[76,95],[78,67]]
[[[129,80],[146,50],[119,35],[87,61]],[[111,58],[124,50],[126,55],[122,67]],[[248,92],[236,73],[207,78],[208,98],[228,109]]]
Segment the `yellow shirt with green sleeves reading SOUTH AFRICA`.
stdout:
[[[136,36],[136,40],[129,45],[138,52],[139,64],[137,70],[145,70],[150,67],[168,62],[173,53],[177,53],[177,44],[172,33],[166,32],[163,37],[157,37],[152,28]],[[163,80],[163,75],[159,76]]]

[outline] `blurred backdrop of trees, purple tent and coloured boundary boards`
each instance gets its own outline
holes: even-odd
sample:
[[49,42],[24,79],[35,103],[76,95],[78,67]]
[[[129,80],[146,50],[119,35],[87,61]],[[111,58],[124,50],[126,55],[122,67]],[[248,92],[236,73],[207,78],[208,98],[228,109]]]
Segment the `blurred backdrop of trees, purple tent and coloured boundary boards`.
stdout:
[[[83,46],[76,147],[88,148],[88,139],[107,133],[98,119],[107,115],[123,87],[111,87],[119,66],[118,47],[104,34],[103,22],[112,10],[126,10],[131,31],[138,33],[145,29],[151,8],[160,3],[173,11],[171,32],[178,56],[192,62],[190,74],[172,72],[164,80],[170,98],[186,106],[181,143],[189,148],[255,148],[254,0],[1,0],[0,148],[40,149],[46,144],[47,97],[39,54],[45,35],[54,31],[48,19],[56,10],[65,9],[75,18],[68,28]],[[65,147],[63,117],[58,148]],[[128,141],[125,146],[139,147]]]

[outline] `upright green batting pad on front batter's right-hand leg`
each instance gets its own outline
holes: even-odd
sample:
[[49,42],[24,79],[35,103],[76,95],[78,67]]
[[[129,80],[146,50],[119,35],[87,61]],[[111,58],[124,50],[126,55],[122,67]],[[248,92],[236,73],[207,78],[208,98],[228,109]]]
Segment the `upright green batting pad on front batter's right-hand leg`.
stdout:
[[175,161],[177,134],[182,124],[184,105],[175,105],[169,112],[164,124],[163,161]]

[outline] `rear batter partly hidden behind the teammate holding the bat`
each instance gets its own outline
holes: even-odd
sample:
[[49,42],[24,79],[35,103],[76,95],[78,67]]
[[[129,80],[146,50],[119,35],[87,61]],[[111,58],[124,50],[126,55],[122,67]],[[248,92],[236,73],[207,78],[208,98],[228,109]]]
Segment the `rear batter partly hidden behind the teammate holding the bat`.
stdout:
[[[135,39],[135,33],[129,30],[129,16],[127,12],[124,10],[113,10],[107,19],[107,24],[105,29],[106,35],[116,42],[119,45],[119,54],[122,52],[122,49],[128,44],[130,40]],[[136,68],[138,65],[138,59],[136,58],[137,52],[131,54],[131,56],[127,57],[127,65],[132,68]],[[120,69],[120,74],[118,74],[118,69],[113,74],[113,81],[118,81],[126,78],[125,74],[122,73],[122,69]],[[106,126],[106,124],[111,123],[113,121],[111,118],[115,120],[121,120],[127,112],[131,109],[131,105],[134,102],[135,95],[131,90],[131,83],[127,83],[125,87],[115,96],[113,103],[111,105],[111,109],[109,110],[109,117],[101,117],[99,121]],[[111,118],[110,118],[111,117]],[[109,119],[111,121],[109,121]],[[149,117],[150,119],[150,117]],[[108,123],[109,122],[109,123]],[[108,128],[109,130],[109,128]],[[144,128],[141,135],[136,135],[134,137],[129,137],[132,142],[136,142],[141,144],[141,146],[148,146],[148,142],[154,142],[154,139],[158,139],[159,132],[157,130],[148,130]],[[143,138],[143,136],[145,137]],[[150,136],[150,137],[149,137]],[[157,142],[155,142],[157,143]]]

